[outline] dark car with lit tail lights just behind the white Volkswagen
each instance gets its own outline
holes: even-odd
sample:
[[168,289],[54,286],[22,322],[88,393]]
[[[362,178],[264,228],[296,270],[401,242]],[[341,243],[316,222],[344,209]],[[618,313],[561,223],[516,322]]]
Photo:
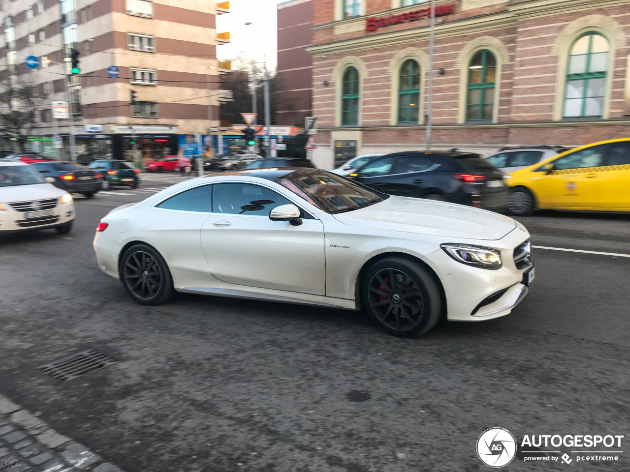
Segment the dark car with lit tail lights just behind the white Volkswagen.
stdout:
[[55,187],[67,190],[69,193],[81,193],[87,198],[92,198],[103,185],[103,174],[91,171],[81,164],[70,162],[33,162],[35,167],[44,177],[55,179],[51,182]]

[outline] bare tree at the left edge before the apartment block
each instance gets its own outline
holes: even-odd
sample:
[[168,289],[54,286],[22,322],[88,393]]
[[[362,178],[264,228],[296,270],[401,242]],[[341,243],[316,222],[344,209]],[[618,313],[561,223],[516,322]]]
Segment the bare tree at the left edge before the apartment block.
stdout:
[[20,76],[3,76],[0,80],[0,137],[25,150],[28,137],[42,122],[43,110],[49,107],[43,84],[32,84]]

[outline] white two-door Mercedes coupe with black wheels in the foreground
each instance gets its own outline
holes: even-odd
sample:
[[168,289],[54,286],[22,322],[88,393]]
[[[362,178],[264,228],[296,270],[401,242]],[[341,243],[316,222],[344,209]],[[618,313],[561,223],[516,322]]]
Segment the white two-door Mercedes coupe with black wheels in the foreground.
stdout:
[[512,218],[292,167],[198,177],[116,208],[94,249],[143,305],[185,292],[365,306],[404,337],[440,317],[507,315],[534,278],[529,233]]

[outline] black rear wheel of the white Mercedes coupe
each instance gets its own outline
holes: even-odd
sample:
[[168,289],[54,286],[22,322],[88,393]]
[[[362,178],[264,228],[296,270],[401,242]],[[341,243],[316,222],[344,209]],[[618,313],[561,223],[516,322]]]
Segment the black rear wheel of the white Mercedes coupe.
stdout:
[[159,252],[146,244],[135,244],[120,258],[120,281],[140,305],[158,305],[175,295],[173,278]]

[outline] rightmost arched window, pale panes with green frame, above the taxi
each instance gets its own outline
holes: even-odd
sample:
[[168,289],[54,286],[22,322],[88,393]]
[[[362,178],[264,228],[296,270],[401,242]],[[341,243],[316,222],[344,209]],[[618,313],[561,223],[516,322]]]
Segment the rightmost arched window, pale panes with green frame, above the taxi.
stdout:
[[602,116],[610,45],[597,33],[573,43],[569,52],[564,92],[564,118]]

